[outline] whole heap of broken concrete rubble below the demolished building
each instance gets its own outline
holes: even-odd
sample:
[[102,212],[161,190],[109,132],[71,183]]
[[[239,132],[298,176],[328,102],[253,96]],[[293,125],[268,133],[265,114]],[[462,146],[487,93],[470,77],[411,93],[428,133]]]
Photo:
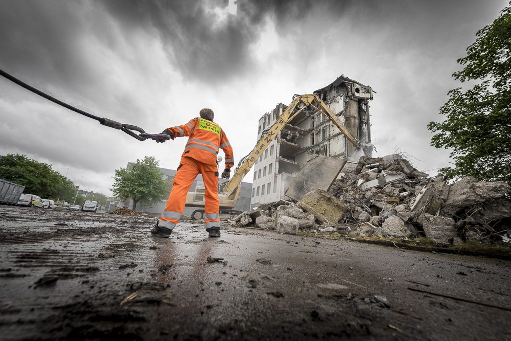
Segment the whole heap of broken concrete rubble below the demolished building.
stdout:
[[399,154],[346,164],[330,189],[244,212],[232,225],[296,234],[298,230],[379,238],[426,237],[438,243],[509,243],[510,186],[467,176],[453,185],[429,177]]

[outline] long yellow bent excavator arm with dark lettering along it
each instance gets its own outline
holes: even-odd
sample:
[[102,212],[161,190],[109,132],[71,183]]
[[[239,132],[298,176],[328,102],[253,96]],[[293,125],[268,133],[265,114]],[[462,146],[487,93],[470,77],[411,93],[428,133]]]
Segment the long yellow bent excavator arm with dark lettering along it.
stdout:
[[243,162],[238,165],[233,177],[228,183],[223,185],[223,194],[227,195],[230,200],[236,201],[240,195],[241,180],[248,173],[250,168],[257,161],[258,157],[264,152],[271,141],[273,141],[277,134],[294,119],[301,111],[306,108],[312,108],[326,115],[334,125],[345,135],[345,137],[355,146],[359,146],[358,140],[346,129],[344,124],[339,120],[335,113],[325,104],[316,94],[309,95],[295,95],[291,104],[284,110],[282,115],[277,118],[273,125],[263,131],[261,138],[252,149],[252,151],[244,158]]

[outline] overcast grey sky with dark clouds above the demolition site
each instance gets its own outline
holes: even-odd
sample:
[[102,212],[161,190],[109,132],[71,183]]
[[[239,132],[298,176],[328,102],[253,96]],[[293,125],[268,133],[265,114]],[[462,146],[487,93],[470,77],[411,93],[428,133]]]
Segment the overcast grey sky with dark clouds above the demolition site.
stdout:
[[[459,83],[456,59],[506,1],[0,0],[0,69],[147,132],[215,111],[235,162],[258,120],[340,75],[373,87],[375,156],[448,166],[430,121]],[[140,142],[0,77],[0,155],[47,162],[110,195],[114,170],[153,155],[176,169],[186,139]],[[223,169],[223,165],[221,170]],[[249,174],[245,180],[251,182]],[[90,184],[90,185],[89,185]]]

